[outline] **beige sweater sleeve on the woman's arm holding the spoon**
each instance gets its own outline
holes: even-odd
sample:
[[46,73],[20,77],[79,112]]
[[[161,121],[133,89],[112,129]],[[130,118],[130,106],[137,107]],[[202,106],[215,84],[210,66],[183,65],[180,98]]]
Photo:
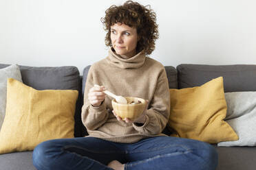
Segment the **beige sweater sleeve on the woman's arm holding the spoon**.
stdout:
[[92,88],[92,86],[94,86],[94,84],[96,83],[97,82],[94,82],[94,69],[93,66],[91,66],[87,75],[84,93],[84,104],[81,114],[83,125],[85,125],[87,130],[96,130],[107,121],[107,118],[109,116],[105,106],[105,101],[103,101],[103,104],[98,107],[94,107],[89,104],[89,89]]

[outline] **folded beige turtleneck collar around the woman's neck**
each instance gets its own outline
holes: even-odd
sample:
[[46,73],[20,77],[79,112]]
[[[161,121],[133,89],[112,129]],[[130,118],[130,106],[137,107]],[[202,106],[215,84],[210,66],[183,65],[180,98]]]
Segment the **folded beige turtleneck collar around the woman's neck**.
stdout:
[[121,69],[131,69],[131,68],[139,68],[144,64],[146,60],[145,50],[140,51],[135,56],[124,59],[121,58],[118,54],[116,54],[112,49],[109,49],[109,56],[107,56],[107,61],[113,64],[114,66],[118,66]]

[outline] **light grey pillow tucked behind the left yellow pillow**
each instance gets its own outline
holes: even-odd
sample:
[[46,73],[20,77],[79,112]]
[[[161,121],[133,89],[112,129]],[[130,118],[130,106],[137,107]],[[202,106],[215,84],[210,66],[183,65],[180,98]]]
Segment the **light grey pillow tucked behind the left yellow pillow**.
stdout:
[[6,68],[0,69],[0,130],[6,115],[6,90],[8,78],[14,78],[15,80],[22,82],[21,71],[17,64],[12,64]]

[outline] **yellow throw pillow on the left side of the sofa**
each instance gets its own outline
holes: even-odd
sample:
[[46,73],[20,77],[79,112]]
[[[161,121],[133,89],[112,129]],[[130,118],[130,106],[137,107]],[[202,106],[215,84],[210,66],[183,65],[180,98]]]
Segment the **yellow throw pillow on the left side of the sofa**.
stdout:
[[8,79],[0,154],[33,150],[54,138],[73,138],[77,98],[77,90],[35,90]]

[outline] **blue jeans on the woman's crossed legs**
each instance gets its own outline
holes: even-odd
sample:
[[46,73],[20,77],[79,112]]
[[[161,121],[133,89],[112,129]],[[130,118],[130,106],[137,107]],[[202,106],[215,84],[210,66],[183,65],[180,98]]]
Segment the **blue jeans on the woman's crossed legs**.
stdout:
[[213,170],[217,151],[208,143],[187,138],[157,136],[137,143],[114,143],[100,138],[63,138],[36,146],[33,164],[39,170],[111,169],[118,160],[125,169]]

